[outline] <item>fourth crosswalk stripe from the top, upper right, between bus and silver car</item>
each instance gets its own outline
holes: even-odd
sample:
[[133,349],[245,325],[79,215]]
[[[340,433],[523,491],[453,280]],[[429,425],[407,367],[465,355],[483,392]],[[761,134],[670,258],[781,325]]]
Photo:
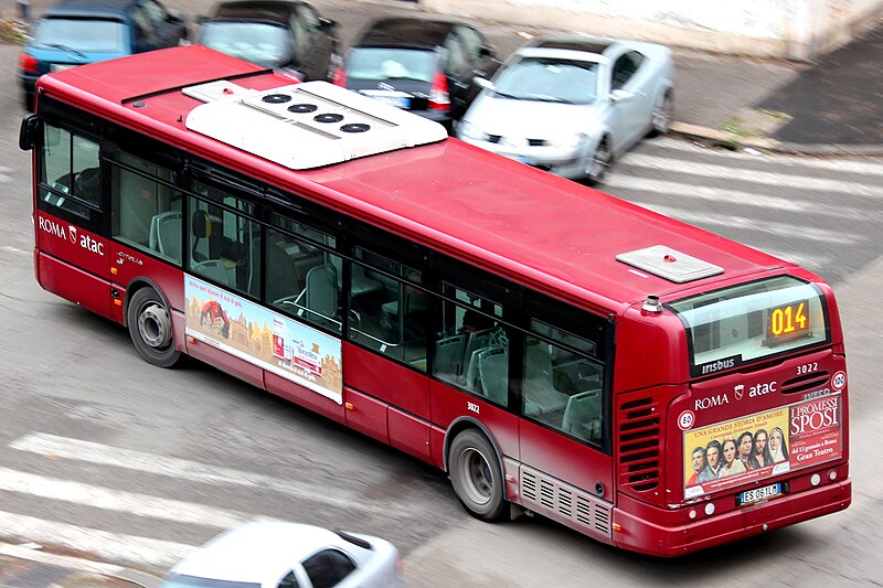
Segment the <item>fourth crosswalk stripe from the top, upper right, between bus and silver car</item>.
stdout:
[[[796,226],[786,225],[774,221],[760,221],[758,218],[746,218],[744,216],[733,216],[730,214],[695,213],[674,206],[664,206],[650,202],[632,202],[643,206],[645,209],[650,209],[651,211],[658,212],[666,216],[670,216],[672,218],[698,226],[719,225],[727,228],[745,228],[747,231],[758,231],[760,233],[767,233],[772,235],[805,240],[818,240],[826,244],[833,243],[838,245],[852,245],[860,243],[863,239],[863,237],[860,235],[852,235],[850,233],[843,233],[842,231],[827,231],[818,227],[804,227],[804,232],[800,233]],[[741,239],[736,240],[744,243],[744,240]],[[754,246],[752,245],[752,247]]]

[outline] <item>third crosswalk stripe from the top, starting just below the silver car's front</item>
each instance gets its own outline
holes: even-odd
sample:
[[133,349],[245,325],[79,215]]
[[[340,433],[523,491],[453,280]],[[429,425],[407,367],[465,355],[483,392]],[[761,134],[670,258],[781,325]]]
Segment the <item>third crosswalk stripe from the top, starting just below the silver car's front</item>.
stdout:
[[[831,205],[825,202],[794,200],[779,196],[769,196],[755,192],[727,190],[710,185],[694,185],[652,178],[637,178],[617,173],[605,180],[605,186],[619,190],[635,190],[639,192],[653,192],[674,199],[695,199],[710,202],[738,204],[742,206],[758,206],[764,210],[778,210],[806,214],[831,214],[838,218],[857,222],[883,223],[883,212],[857,209],[852,206]],[[613,193],[613,192],[611,192]],[[614,195],[617,195],[614,193]],[[627,196],[619,196],[630,200]]]

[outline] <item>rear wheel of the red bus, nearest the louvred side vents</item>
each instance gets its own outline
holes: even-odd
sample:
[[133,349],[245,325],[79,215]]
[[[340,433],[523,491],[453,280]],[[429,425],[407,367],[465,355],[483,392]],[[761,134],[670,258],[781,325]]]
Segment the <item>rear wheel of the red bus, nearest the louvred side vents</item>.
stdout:
[[502,469],[487,437],[475,429],[457,435],[450,443],[448,473],[469,514],[487,522],[502,518],[507,505]]

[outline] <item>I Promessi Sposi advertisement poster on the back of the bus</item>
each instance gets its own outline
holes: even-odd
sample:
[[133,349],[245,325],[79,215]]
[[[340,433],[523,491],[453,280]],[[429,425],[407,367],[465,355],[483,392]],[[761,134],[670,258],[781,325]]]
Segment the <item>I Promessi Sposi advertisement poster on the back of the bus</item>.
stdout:
[[684,431],[684,499],[839,459],[841,415],[832,394]]

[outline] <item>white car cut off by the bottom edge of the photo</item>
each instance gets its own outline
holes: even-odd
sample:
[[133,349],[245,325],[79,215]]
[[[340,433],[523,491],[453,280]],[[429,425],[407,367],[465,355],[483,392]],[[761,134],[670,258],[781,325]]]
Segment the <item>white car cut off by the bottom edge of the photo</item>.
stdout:
[[162,588],[387,588],[404,586],[390,542],[312,525],[256,521],[185,557]]

